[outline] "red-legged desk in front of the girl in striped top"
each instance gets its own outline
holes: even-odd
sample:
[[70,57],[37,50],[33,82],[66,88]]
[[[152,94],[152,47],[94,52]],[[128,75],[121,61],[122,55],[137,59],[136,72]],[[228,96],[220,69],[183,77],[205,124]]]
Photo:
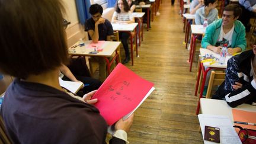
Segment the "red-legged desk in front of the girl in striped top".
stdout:
[[[132,57],[132,65],[133,65],[133,48],[136,48],[136,56],[139,57],[137,52],[137,32],[136,27],[137,23],[131,23],[131,24],[116,24],[111,23],[114,31],[123,31],[130,34],[130,53]],[[135,31],[135,46],[133,46],[133,35],[132,32]]]

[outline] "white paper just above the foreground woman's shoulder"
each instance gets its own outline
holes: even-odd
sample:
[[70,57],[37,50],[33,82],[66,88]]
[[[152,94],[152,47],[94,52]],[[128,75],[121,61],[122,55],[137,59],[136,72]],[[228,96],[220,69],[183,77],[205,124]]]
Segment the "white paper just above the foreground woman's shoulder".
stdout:
[[68,89],[73,94],[76,94],[80,88],[82,88],[82,82],[63,81],[59,78],[59,84],[61,87]]

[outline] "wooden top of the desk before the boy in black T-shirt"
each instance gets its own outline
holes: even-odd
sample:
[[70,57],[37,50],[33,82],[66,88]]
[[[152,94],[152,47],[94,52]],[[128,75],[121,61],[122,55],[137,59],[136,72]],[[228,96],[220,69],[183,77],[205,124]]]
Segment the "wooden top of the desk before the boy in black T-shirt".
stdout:
[[[69,55],[76,55],[76,56],[105,56],[105,57],[110,57],[119,47],[120,41],[105,41],[105,43],[99,47],[100,49],[103,49],[102,52],[98,52],[97,54],[89,54],[89,52],[94,52],[94,49],[92,48],[87,48],[87,46],[92,43],[91,40],[85,41],[85,46],[77,46],[75,48],[69,48]],[[79,44],[77,42],[76,44]],[[74,44],[73,46],[75,46]],[[73,49],[75,49],[75,52],[73,52]],[[84,53],[81,52],[81,50],[84,50]]]

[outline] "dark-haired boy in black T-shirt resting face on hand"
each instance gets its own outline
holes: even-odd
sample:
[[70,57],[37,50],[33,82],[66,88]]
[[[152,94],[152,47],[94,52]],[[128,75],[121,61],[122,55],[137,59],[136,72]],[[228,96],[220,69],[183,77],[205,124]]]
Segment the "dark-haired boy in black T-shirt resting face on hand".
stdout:
[[[89,33],[89,39],[94,43],[98,43],[98,40],[110,40],[110,36],[113,36],[113,27],[107,19],[101,17],[103,14],[103,8],[101,5],[93,4],[89,8],[89,13],[92,15],[91,18],[85,23],[85,31]],[[101,82],[107,77],[106,73],[106,62],[103,57],[92,57],[96,59],[100,65],[99,68],[99,79]]]

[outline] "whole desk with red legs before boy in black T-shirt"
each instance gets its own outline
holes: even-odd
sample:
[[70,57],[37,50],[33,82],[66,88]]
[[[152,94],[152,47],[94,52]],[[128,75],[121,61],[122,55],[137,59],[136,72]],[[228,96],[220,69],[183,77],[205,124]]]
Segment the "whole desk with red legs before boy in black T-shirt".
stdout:
[[[85,46],[80,47],[79,41],[76,44],[73,44],[73,46],[69,47],[69,55],[71,56],[97,56],[97,57],[103,57],[105,59],[105,62],[107,63],[107,72],[108,75],[110,74],[110,68],[111,65],[113,65],[114,60],[116,60],[116,64],[119,63],[120,60],[120,41],[104,41],[103,45],[98,47],[98,49],[103,49],[102,52],[98,52],[96,54],[90,53],[95,52],[94,48],[87,47],[89,44],[92,43],[91,40],[84,41]],[[95,44],[97,46],[97,44]],[[72,48],[74,47],[74,48]],[[82,51],[82,52],[81,52]],[[114,54],[115,53],[115,54]],[[111,57],[114,54],[113,59],[111,61],[108,60],[108,57]]]

